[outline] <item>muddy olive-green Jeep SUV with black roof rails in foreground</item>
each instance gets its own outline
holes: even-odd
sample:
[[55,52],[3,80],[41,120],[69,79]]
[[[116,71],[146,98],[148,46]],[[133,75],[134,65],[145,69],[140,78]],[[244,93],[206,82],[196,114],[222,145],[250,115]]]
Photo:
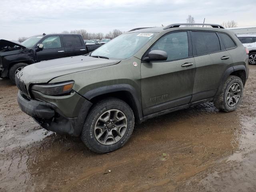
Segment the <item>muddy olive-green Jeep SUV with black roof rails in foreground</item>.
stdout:
[[21,110],[97,153],[124,146],[134,122],[204,102],[236,110],[249,74],[246,48],[220,25],[181,25],[136,28],[88,56],[25,67],[16,76]]

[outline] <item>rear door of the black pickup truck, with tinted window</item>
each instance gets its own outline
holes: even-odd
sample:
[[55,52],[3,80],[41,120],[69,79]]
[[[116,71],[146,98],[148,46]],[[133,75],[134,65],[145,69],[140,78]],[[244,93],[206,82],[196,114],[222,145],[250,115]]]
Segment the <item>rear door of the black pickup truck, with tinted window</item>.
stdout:
[[84,40],[80,35],[62,35],[65,54],[67,57],[86,54]]

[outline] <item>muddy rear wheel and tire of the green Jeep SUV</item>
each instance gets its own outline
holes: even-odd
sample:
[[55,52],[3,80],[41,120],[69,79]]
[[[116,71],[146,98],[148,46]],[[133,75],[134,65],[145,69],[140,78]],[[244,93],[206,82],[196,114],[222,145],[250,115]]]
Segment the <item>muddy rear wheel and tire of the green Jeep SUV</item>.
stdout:
[[242,101],[244,84],[238,76],[230,75],[224,82],[220,94],[214,99],[214,106],[224,112],[238,108]]

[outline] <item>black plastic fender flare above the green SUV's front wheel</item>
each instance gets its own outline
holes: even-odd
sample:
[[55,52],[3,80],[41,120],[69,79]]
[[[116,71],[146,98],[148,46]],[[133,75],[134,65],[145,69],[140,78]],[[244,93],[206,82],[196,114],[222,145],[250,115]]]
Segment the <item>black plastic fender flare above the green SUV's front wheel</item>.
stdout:
[[130,84],[114,84],[114,85],[108,85],[108,86],[94,88],[94,89],[86,92],[83,96],[84,96],[84,98],[91,100],[92,98],[94,98],[96,96],[100,96],[100,95],[108,94],[108,93],[119,92],[119,91],[127,91],[131,94],[132,99],[134,100],[135,107],[136,107],[136,111],[134,112],[134,114],[138,116],[138,120],[141,122],[143,115],[142,115],[140,95],[138,95],[138,93],[136,92],[136,89],[133,86],[131,86]]

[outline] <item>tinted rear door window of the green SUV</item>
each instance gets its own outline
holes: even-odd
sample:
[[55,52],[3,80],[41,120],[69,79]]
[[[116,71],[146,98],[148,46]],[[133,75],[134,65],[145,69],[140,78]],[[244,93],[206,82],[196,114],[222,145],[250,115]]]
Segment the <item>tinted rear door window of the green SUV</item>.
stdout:
[[191,32],[196,55],[220,51],[220,41],[214,32]]

